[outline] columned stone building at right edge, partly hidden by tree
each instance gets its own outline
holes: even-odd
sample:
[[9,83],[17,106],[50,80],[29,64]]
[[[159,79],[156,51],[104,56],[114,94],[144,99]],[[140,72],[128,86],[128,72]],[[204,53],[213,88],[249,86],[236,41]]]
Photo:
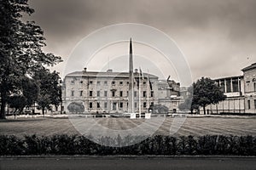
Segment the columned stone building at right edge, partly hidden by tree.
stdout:
[[256,63],[241,71],[243,76],[215,79],[227,99],[208,105],[207,113],[256,113]]

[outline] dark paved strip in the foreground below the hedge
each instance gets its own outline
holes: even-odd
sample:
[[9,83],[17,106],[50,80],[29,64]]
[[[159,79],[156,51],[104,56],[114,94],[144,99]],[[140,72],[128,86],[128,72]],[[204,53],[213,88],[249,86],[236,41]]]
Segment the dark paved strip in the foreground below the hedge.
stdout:
[[49,156],[0,158],[0,169],[93,169],[93,170],[255,170],[256,157],[150,157],[135,156]]

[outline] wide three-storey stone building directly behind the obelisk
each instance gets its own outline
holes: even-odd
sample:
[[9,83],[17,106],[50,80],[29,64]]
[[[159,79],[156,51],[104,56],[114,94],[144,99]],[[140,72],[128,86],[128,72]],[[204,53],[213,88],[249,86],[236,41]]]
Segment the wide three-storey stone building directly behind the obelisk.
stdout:
[[[155,94],[158,90],[158,77],[144,73],[144,79],[141,78],[139,82],[139,74],[137,70],[134,72],[134,107],[137,112],[140,103],[142,111],[146,112],[149,105],[158,103]],[[148,77],[152,85],[149,92]],[[62,92],[64,110],[68,111],[68,105],[76,102],[84,105],[84,112],[128,112],[129,83],[128,72],[96,72],[84,69],[67,74]]]

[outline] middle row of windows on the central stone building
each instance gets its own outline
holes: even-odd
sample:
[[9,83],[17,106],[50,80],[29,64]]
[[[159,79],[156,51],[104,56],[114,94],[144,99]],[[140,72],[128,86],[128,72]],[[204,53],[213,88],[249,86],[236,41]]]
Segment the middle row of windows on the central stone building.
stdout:
[[[83,90],[79,91],[79,96],[83,96],[83,94],[84,94]],[[151,94],[150,95],[151,97],[154,97],[154,92],[153,91],[151,91],[150,94]],[[126,96],[128,96],[128,95],[129,95],[129,92],[127,91]],[[74,90],[71,91],[71,96],[74,96]],[[93,91],[89,91],[89,96],[93,97]],[[116,91],[115,90],[111,91],[111,96],[116,97]],[[96,97],[108,97],[108,91],[104,91],[103,96],[101,96],[101,91],[96,91]],[[119,97],[124,97],[124,92],[123,91],[119,91]],[[134,97],[135,98],[137,97],[137,92],[134,92]],[[143,97],[147,97],[147,91],[143,91]]]

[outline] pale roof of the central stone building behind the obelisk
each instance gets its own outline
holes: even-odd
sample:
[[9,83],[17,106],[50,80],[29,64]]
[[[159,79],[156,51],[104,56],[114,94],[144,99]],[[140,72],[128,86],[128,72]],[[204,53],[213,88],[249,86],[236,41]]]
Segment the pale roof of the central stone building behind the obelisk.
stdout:
[[[138,77],[139,73],[134,72],[134,77]],[[148,73],[143,73],[143,76],[147,78],[149,76],[150,79],[158,79],[158,77],[148,74]],[[74,71],[69,74],[67,74],[66,77],[114,77],[114,78],[128,78],[129,77],[129,72],[113,72],[113,71]]]

